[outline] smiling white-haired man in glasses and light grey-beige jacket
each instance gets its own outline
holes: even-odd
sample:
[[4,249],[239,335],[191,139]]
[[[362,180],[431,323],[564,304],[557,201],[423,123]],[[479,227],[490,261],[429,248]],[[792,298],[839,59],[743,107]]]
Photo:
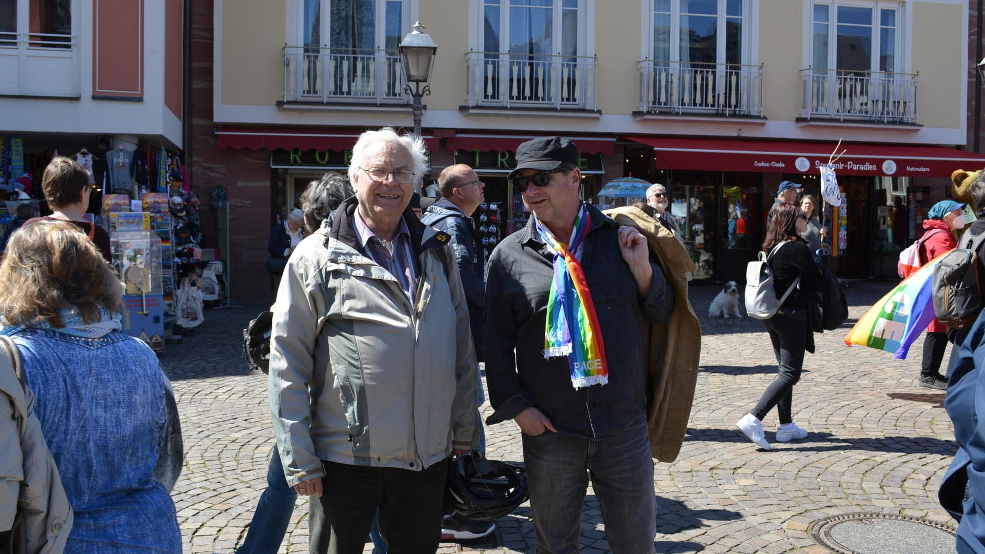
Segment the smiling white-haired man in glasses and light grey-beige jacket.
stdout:
[[376,512],[391,554],[433,552],[452,454],[479,443],[476,360],[447,234],[408,207],[424,142],[353,148],[356,195],[301,242],[274,309],[269,399],[311,552],[359,553]]

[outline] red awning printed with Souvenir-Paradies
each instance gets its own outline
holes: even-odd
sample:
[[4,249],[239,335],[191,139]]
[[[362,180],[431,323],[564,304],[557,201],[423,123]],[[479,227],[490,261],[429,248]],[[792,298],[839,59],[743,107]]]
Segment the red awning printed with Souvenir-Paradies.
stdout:
[[[817,173],[835,143],[625,137],[652,146],[661,170]],[[939,146],[845,144],[834,171],[846,175],[950,177],[985,167],[985,155]]]

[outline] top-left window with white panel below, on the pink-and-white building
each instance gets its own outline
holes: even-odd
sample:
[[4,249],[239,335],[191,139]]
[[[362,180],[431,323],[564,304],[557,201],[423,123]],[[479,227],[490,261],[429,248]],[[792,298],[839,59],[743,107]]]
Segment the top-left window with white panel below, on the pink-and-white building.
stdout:
[[79,2],[0,0],[0,94],[78,96]]

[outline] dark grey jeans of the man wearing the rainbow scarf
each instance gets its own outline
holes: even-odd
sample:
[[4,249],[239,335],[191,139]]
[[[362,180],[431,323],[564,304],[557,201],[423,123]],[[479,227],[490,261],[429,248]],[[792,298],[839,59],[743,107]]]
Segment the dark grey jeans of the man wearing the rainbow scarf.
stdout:
[[538,553],[578,552],[589,475],[612,551],[653,552],[657,504],[645,414],[608,439],[523,435],[523,459]]

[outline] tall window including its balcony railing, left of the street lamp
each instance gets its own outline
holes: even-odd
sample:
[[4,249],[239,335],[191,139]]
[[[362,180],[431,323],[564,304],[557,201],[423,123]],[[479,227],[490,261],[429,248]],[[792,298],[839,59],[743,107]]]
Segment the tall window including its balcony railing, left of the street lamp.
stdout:
[[403,101],[397,47],[410,27],[405,0],[298,0],[285,47],[288,100]]

